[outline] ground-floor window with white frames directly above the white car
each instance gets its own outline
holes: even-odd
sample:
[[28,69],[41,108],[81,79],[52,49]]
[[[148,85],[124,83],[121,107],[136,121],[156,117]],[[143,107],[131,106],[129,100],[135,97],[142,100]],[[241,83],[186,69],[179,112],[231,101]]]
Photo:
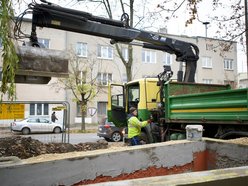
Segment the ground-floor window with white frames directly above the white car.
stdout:
[[49,105],[47,103],[31,103],[29,105],[29,115],[49,115]]

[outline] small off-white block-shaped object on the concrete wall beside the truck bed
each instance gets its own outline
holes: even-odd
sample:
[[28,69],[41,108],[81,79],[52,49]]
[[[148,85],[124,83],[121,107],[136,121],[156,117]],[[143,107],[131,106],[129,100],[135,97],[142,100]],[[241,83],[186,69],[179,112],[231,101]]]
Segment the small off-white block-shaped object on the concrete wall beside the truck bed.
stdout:
[[187,140],[201,140],[203,126],[202,125],[187,125],[186,126],[186,139]]

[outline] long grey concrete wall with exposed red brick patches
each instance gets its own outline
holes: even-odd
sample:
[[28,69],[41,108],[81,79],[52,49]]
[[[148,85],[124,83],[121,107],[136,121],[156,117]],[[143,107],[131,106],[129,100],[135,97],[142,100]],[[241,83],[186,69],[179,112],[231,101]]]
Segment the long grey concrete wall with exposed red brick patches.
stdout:
[[[233,165],[244,166],[248,165],[247,155],[247,146],[229,146],[221,141],[171,141],[82,152],[77,156],[68,154],[62,159],[54,155],[43,161],[37,158],[35,162],[23,160],[12,165],[0,162],[0,180],[5,186],[72,185],[103,178],[109,181],[125,176],[133,178],[132,175],[139,178],[138,173],[147,177],[214,169],[219,168],[218,163],[224,159],[232,161]],[[208,161],[211,161],[210,165]],[[148,170],[150,174],[147,174]]]

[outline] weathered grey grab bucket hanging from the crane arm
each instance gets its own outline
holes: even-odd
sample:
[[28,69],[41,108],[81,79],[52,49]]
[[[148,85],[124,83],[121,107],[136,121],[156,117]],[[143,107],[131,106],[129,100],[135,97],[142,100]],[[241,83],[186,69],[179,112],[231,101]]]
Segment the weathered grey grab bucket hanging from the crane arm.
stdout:
[[47,84],[51,77],[66,78],[69,58],[65,51],[18,46],[16,83]]

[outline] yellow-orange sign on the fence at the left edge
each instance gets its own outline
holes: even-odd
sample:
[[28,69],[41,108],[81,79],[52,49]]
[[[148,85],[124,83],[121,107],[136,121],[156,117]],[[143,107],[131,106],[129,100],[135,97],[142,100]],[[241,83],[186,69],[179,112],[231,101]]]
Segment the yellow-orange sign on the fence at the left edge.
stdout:
[[24,104],[0,104],[0,119],[23,119]]

